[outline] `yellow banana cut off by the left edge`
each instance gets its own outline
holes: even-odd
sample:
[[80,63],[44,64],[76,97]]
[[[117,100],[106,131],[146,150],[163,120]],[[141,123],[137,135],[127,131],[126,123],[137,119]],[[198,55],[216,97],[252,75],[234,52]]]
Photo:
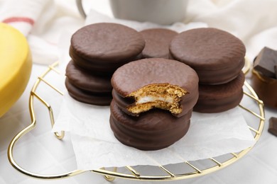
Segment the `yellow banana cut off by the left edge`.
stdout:
[[31,51],[24,35],[0,23],[0,117],[25,90],[31,69]]

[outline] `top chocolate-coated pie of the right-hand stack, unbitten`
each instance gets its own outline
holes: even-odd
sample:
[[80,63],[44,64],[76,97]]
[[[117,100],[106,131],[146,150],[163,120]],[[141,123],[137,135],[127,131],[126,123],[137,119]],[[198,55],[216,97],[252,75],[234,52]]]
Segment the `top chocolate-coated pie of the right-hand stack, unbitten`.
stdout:
[[234,35],[215,28],[184,31],[170,43],[172,57],[197,72],[200,84],[232,81],[244,67],[246,48]]

